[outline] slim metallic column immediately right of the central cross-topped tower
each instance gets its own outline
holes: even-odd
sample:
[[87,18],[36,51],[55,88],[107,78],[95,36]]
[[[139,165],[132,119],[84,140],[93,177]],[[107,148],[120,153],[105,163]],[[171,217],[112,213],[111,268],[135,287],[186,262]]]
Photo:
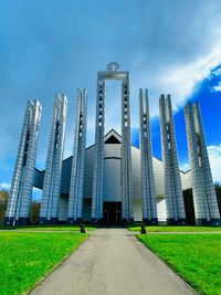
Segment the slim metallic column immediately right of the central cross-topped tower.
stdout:
[[147,89],[145,89],[145,95],[143,89],[139,89],[139,122],[143,220],[146,224],[157,224],[157,201],[155,194],[149,101]]

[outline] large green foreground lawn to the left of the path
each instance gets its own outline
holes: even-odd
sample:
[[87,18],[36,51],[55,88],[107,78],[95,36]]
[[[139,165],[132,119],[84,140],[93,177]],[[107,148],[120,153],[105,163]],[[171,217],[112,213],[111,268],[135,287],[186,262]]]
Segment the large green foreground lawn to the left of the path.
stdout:
[[0,294],[24,294],[87,234],[0,232]]

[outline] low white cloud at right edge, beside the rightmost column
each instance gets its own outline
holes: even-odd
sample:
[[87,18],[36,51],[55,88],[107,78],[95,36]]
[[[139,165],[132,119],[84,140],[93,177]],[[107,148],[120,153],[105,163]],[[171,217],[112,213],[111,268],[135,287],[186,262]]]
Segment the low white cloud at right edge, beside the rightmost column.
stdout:
[[208,154],[210,158],[213,181],[221,182],[221,144],[218,146],[209,146]]

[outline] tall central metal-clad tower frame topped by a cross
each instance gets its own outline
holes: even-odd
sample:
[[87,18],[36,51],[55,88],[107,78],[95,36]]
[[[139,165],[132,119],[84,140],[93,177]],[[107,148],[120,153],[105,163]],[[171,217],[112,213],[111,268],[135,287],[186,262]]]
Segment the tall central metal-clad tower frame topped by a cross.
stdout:
[[119,71],[118,63],[109,63],[107,71],[97,74],[92,219],[103,219],[105,80],[122,81],[122,201],[123,220],[129,221],[133,220],[129,73]]

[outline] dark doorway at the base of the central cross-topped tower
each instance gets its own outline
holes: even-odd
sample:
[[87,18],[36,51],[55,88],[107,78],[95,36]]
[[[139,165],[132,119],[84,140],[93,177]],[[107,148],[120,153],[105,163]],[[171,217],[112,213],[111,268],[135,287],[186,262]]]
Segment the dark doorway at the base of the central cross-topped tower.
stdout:
[[117,224],[122,221],[122,202],[104,202],[104,221]]

